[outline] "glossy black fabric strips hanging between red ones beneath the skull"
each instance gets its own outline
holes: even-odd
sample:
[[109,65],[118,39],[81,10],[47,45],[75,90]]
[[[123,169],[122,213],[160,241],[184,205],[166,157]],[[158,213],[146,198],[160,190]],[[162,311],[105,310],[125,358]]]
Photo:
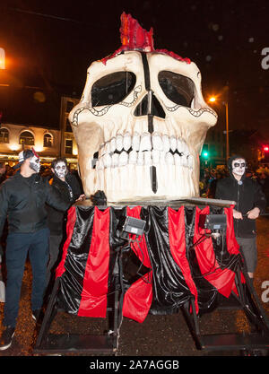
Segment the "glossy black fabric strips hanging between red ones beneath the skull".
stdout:
[[[76,314],[80,307],[83,279],[87,258],[91,248],[94,220],[94,206],[75,206],[76,219],[70,245],[65,257],[65,272],[60,277],[58,303],[62,309]],[[146,206],[141,209],[140,218],[146,222],[144,238],[152,266],[152,314],[170,314],[178,311],[194,295],[189,290],[182,269],[175,262],[169,248],[169,208],[167,206]],[[218,302],[218,290],[201,274],[195,256],[194,230],[195,206],[184,208],[186,256],[191,276],[197,289],[200,313],[212,310]],[[223,213],[215,208],[213,213]],[[126,218],[126,207],[109,207],[109,266],[108,293],[114,291],[115,277],[118,276],[117,250],[126,246],[123,255],[123,284],[125,291],[138,278],[149,272],[143,260],[135,256],[128,241],[121,237],[121,222]],[[129,248],[127,248],[129,246]],[[102,250],[102,248],[99,248]],[[225,233],[220,239],[213,239],[213,251],[218,267],[235,271],[240,256],[230,255],[226,246]]]

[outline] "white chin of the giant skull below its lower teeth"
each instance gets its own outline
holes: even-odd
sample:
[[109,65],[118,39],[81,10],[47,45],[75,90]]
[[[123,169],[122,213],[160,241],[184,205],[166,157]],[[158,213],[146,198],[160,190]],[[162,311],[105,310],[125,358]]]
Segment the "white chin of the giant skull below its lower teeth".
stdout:
[[199,196],[195,170],[167,164],[154,168],[154,173],[151,166],[134,164],[95,170],[93,189],[104,191],[110,203]]

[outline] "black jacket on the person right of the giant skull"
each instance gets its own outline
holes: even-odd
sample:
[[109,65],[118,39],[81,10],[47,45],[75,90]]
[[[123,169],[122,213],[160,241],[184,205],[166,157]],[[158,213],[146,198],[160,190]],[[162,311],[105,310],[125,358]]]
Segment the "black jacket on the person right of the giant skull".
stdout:
[[[258,207],[260,213],[265,212],[266,199],[260,185],[251,178],[242,176],[239,184],[231,174],[229,178],[218,181],[216,188],[216,199],[233,200],[236,202],[235,209],[246,214],[251,209]],[[239,238],[251,238],[256,236],[256,220],[243,217],[243,220],[234,219],[235,235]]]

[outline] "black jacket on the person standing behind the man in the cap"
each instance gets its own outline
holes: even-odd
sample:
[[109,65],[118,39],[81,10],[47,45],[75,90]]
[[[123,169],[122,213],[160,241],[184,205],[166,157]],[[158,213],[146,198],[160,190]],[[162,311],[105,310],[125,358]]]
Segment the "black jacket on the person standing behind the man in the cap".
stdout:
[[[65,177],[65,182],[54,174],[49,183],[56,189],[65,200],[69,201],[70,205],[74,204],[75,200],[82,195],[82,190],[78,180],[73,174],[68,173]],[[48,229],[51,235],[61,235],[65,230],[66,213],[60,212],[52,206],[47,206],[48,211]]]

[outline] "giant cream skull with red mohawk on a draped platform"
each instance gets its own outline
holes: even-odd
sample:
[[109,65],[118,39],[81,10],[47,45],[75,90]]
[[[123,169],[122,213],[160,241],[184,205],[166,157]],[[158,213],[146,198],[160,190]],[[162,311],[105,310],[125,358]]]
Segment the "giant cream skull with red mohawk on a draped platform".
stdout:
[[217,115],[189,59],[154,49],[152,30],[121,16],[122,47],[88,69],[69,115],[86,196],[108,203],[199,196],[199,154]]

